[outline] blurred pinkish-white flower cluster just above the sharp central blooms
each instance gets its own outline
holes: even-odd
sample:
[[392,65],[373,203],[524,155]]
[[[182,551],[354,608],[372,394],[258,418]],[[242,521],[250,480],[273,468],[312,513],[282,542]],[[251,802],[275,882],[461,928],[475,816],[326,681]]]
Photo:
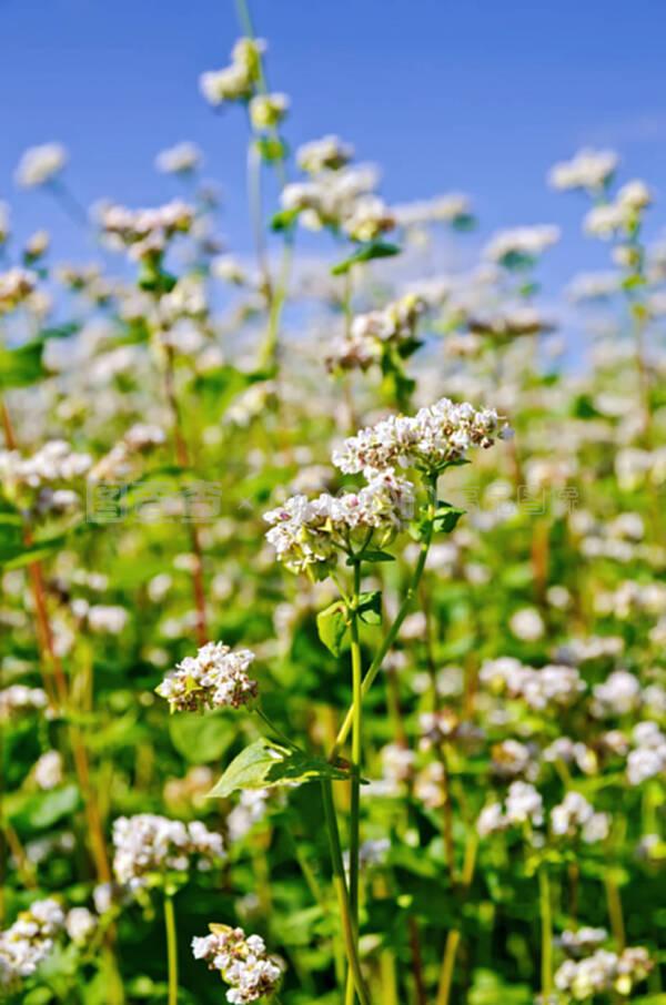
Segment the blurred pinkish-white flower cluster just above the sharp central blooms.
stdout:
[[333,346],[326,365],[330,369],[367,369],[382,358],[386,346],[400,347],[414,338],[424,311],[424,301],[408,293],[380,311],[357,314],[349,335]]

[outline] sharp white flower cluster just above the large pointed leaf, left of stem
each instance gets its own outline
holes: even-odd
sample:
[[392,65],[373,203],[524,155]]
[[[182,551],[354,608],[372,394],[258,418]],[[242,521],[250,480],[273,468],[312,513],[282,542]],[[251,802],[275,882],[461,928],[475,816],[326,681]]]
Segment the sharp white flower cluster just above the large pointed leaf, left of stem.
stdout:
[[254,660],[250,649],[232,650],[224,642],[206,642],[167,674],[155,692],[172,712],[239,709],[256,698],[258,684],[248,676]]

